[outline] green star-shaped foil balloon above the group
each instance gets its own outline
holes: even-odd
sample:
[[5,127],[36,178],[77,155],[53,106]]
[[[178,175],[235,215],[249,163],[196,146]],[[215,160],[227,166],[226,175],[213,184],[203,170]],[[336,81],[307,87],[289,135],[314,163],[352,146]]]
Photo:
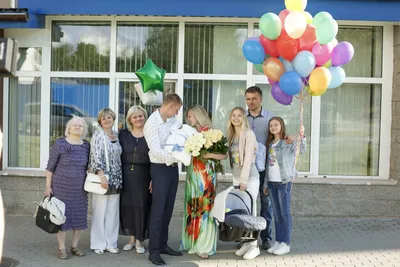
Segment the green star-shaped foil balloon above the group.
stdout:
[[143,92],[149,90],[158,90],[164,92],[164,76],[165,70],[157,67],[153,61],[148,58],[143,68],[135,72],[143,87]]

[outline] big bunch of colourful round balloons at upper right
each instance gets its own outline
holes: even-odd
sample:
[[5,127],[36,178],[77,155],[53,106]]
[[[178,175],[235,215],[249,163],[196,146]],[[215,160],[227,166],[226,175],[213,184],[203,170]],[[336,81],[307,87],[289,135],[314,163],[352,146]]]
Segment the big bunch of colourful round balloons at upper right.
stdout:
[[273,98],[289,105],[303,90],[320,96],[339,87],[346,78],[342,66],[353,58],[354,48],[338,43],[338,24],[328,12],[313,18],[305,11],[307,0],[285,0],[285,6],[279,16],[260,18],[261,37],[248,38],[242,52],[268,77]]

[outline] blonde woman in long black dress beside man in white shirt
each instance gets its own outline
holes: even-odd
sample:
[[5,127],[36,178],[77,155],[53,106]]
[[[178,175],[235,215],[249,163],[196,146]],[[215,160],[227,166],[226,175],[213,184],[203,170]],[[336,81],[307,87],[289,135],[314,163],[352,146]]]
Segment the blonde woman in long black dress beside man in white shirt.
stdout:
[[136,246],[136,252],[145,252],[142,242],[148,238],[148,219],[151,205],[149,147],[144,139],[143,127],[147,112],[133,106],[126,116],[127,129],[119,134],[122,146],[121,230],[130,236],[124,250]]

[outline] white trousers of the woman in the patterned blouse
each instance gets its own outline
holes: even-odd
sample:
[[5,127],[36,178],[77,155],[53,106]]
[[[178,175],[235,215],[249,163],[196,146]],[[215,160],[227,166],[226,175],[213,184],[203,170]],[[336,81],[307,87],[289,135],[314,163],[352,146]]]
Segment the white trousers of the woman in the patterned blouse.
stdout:
[[118,247],[119,194],[93,194],[90,249]]

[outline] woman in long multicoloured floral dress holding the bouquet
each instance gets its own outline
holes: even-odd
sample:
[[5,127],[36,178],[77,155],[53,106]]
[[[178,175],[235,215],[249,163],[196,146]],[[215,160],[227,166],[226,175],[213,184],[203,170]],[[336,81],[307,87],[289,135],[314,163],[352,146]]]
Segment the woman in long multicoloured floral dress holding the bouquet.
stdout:
[[[206,132],[212,127],[206,110],[200,105],[187,110],[186,121],[198,132]],[[189,254],[197,254],[203,259],[215,254],[217,246],[217,226],[209,216],[216,195],[217,173],[214,160],[226,158],[226,154],[205,153],[193,157],[186,170],[180,249],[188,251]]]

